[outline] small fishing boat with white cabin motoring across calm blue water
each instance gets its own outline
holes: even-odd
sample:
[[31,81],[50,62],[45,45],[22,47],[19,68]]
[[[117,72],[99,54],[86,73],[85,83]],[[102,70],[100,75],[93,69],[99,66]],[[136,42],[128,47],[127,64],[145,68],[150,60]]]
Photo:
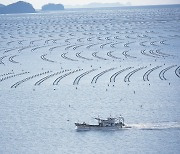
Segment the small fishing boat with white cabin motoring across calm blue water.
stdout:
[[98,121],[98,124],[87,124],[83,123],[75,123],[76,130],[120,130],[122,128],[127,128],[124,124],[124,118],[120,117],[111,117],[109,116],[107,119],[94,118]]

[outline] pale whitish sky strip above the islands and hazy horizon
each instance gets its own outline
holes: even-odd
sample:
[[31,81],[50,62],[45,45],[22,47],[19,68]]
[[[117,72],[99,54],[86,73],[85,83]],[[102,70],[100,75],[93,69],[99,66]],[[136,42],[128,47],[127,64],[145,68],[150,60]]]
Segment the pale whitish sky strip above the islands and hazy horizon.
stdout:
[[[19,0],[0,0],[0,4],[11,4],[17,2]],[[83,5],[88,3],[122,3],[126,4],[128,2],[131,5],[159,5],[159,4],[180,4],[180,0],[22,0],[29,2],[33,5],[35,9],[40,9],[42,5],[48,3],[55,3],[55,4],[63,4],[63,5]]]

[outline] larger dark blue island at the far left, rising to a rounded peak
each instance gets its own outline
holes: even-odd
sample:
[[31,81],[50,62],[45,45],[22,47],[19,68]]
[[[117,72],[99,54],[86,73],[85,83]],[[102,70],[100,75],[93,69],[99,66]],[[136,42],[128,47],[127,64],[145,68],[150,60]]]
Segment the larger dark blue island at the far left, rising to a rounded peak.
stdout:
[[35,9],[30,3],[18,1],[10,5],[0,5],[0,14],[13,14],[13,13],[35,13]]

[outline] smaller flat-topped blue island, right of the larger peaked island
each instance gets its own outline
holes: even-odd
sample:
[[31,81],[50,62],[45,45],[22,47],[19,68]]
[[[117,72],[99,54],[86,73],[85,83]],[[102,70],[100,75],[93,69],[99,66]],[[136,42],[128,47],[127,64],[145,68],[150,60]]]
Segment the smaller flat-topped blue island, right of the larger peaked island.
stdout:
[[42,11],[60,11],[60,10],[64,10],[64,6],[62,4],[49,3],[42,6]]

